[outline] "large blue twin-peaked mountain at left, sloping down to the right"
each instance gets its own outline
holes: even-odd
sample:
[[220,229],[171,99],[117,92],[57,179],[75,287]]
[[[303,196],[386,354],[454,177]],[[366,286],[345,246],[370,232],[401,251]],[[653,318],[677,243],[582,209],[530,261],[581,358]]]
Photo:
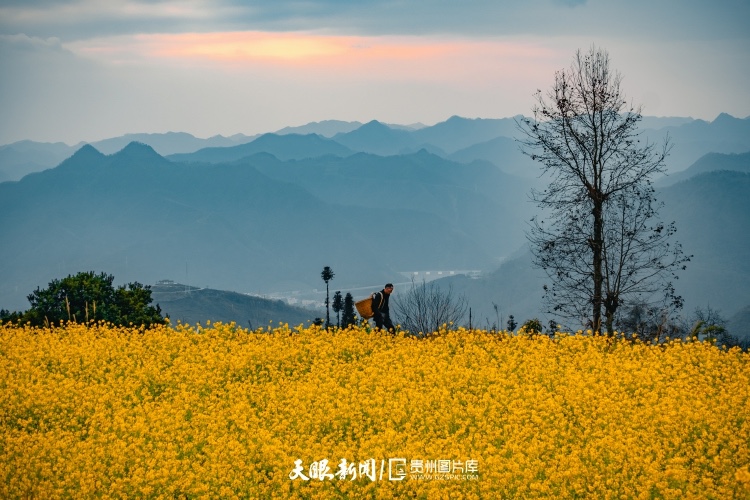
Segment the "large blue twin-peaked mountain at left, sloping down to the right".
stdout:
[[54,169],[0,184],[0,214],[6,309],[82,270],[269,293],[318,288],[325,265],[344,289],[411,269],[487,266],[494,253],[461,230],[460,213],[347,206],[247,161],[174,163],[136,143],[114,155],[84,146]]

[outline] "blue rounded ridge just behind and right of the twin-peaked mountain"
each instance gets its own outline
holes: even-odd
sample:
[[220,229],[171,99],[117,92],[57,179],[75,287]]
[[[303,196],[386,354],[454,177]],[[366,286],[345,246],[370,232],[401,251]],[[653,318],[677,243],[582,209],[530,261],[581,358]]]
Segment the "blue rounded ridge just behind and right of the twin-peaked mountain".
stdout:
[[352,151],[317,134],[263,134],[252,142],[228,148],[204,148],[195,153],[170,155],[172,161],[221,163],[257,153],[269,153],[281,160],[318,156],[349,156]]

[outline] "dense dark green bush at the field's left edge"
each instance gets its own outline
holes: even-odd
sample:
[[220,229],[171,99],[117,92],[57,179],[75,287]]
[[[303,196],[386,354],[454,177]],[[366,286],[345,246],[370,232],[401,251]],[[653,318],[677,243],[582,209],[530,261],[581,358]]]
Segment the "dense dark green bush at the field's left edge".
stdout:
[[52,280],[45,289],[28,296],[31,308],[24,313],[6,313],[2,321],[29,322],[34,326],[61,321],[104,320],[115,325],[165,323],[161,308],[151,306],[151,290],[138,282],[117,288],[111,274],[93,271]]

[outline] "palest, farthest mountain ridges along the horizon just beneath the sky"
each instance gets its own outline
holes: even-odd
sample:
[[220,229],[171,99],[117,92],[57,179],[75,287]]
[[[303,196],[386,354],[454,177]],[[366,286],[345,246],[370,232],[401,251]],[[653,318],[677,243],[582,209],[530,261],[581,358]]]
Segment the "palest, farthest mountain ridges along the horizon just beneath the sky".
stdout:
[[[425,149],[455,161],[485,160],[506,172],[529,175],[531,170],[528,167],[529,159],[517,147],[511,147],[514,138],[520,134],[516,125],[518,118],[469,119],[453,116],[432,126],[387,125],[374,120],[365,124],[326,120],[299,127],[284,127],[275,135],[317,134],[321,138],[338,142],[352,152],[367,152],[381,156],[410,154]],[[667,158],[667,171],[672,174],[686,169],[707,153],[727,154],[750,151],[750,117],[739,119],[722,113],[712,122],[706,122],[691,118],[647,116],[643,118],[641,125],[644,137],[650,142],[659,143],[667,135],[671,138],[673,148]],[[266,135],[268,134],[264,134]],[[236,134],[231,137],[215,136],[209,139],[197,139],[190,134],[168,132],[166,134],[127,134],[92,144],[103,153],[112,154],[135,140],[150,145],[162,156],[188,155],[206,148],[217,148],[210,154],[208,151],[201,154],[220,158],[223,153],[218,152],[219,148],[237,147],[240,144],[252,143],[261,137],[260,135]],[[267,139],[266,137],[265,140]],[[0,182],[16,181],[28,173],[54,167],[73,154],[78,147],[80,144],[67,146],[31,141],[0,146]],[[335,148],[333,145],[329,147]],[[246,154],[254,154],[264,149],[265,151],[262,152],[269,152],[267,151],[269,148],[270,146],[261,146],[259,143],[249,147]],[[282,159],[300,159],[318,154],[328,154],[328,152],[315,151],[312,148],[307,152],[298,150],[294,155],[285,156],[283,151],[278,150],[275,153]],[[339,150],[331,154],[348,155],[350,153]],[[241,157],[227,153],[227,158],[230,156],[234,159]],[[176,158],[179,161],[204,161],[190,160],[186,156]],[[226,159],[221,161],[226,161]]]

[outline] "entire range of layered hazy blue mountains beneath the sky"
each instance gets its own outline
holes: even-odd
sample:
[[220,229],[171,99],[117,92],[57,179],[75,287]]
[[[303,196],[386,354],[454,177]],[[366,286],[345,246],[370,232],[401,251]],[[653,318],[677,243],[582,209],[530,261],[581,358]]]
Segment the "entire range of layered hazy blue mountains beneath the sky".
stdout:
[[[644,129],[649,140],[668,134],[673,156],[692,158],[657,181],[663,218],[694,254],[677,284],[686,309],[738,314],[750,304],[750,120],[646,123],[661,127]],[[190,143],[178,134],[172,149],[162,145],[168,154],[143,142],[114,153],[85,145],[0,183],[0,306],[24,308],[37,286],[82,270],[264,295],[314,291],[330,265],[343,292],[417,271],[481,271],[440,280],[466,294],[475,325],[543,316],[546,278],[531,268],[524,230],[535,211],[527,193],[544,179],[504,135],[515,119],[355,125],[320,122],[193,151],[175,151]],[[0,159],[42,151],[12,146]]]

